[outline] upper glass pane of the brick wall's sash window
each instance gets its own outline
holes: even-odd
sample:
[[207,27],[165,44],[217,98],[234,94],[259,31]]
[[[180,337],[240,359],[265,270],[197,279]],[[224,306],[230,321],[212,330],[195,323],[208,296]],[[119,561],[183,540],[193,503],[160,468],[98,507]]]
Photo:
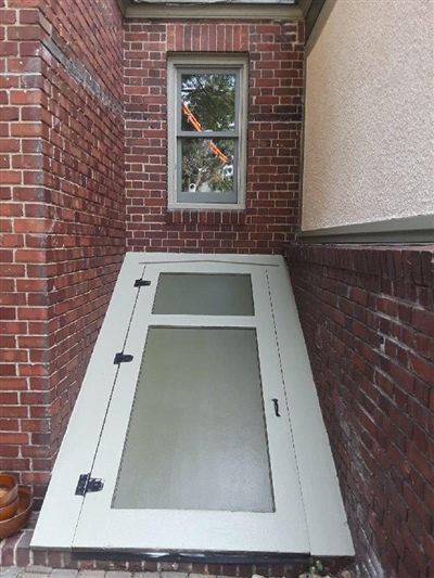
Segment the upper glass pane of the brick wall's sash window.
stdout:
[[234,130],[234,74],[181,75],[181,129]]

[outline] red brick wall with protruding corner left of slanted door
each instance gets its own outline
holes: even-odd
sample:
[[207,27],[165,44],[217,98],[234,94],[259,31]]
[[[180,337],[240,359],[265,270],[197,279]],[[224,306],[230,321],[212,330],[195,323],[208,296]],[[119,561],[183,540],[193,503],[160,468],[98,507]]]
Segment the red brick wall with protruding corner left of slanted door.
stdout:
[[0,470],[44,491],[125,251],[115,0],[5,0]]

